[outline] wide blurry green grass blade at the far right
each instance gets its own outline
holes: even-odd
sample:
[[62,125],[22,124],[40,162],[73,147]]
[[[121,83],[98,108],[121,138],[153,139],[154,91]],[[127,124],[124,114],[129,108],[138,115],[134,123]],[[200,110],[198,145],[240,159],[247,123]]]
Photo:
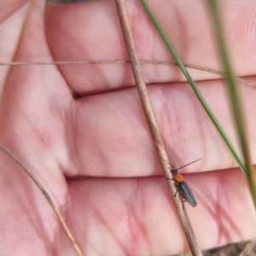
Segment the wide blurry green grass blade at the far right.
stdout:
[[228,90],[230,93],[230,103],[233,110],[234,119],[236,121],[236,130],[239,138],[241,152],[243,155],[244,162],[247,167],[247,177],[249,188],[251,190],[251,194],[253,195],[254,207],[256,208],[256,186],[254,183],[253,177],[253,166],[251,161],[251,155],[249,152],[249,146],[247,141],[247,133],[245,129],[245,122],[242,118],[241,111],[241,99],[239,96],[238,88],[236,85],[236,78],[233,73],[233,69],[230,63],[230,57],[228,54],[228,49],[225,44],[224,31],[223,31],[223,22],[221,21],[221,17],[219,15],[218,10],[218,1],[216,0],[208,0],[209,7],[212,13],[212,20],[216,30],[216,38],[218,40],[218,50],[219,54],[224,66],[224,73],[227,81]]

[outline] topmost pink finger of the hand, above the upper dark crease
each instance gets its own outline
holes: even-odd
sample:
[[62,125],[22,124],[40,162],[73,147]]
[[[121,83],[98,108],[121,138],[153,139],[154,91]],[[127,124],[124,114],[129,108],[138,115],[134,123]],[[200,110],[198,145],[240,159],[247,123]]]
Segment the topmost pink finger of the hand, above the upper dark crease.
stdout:
[[[125,4],[139,58],[173,61],[141,3],[126,1]],[[215,36],[212,35],[212,21],[206,4],[199,0],[193,3],[185,0],[178,3],[149,1],[149,4],[184,63],[222,69],[216,54]],[[252,55],[255,4],[253,0],[236,0],[236,4],[234,1],[225,1],[221,5],[232,64],[238,76],[255,73],[255,57]],[[50,5],[47,9],[46,33],[49,48],[56,61],[128,59],[114,1],[72,6]],[[69,65],[59,68],[67,83],[79,95],[134,84],[131,67],[127,64]],[[143,74],[148,84],[184,80],[177,67],[144,65]],[[195,80],[216,78],[216,75],[195,70],[191,70],[191,74]]]

